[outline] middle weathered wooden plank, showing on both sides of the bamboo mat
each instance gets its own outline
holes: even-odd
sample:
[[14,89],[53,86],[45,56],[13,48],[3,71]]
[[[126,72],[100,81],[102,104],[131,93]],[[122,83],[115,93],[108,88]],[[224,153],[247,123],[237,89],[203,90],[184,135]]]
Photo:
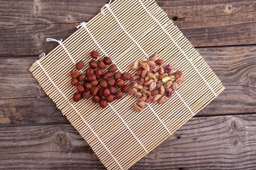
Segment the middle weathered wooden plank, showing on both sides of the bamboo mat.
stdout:
[[[197,115],[255,113],[256,46],[197,50],[226,88]],[[36,59],[0,59],[0,124],[66,121],[29,71]],[[14,111],[20,115],[15,116]]]

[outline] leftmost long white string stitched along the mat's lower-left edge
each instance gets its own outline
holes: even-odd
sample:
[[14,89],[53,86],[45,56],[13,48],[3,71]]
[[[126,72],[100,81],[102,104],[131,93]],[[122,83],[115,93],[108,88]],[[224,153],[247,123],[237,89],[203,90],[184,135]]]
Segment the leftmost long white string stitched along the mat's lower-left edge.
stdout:
[[84,120],[84,118],[81,116],[81,114],[79,113],[79,111],[76,110],[76,108],[72,105],[72,103],[70,103],[70,101],[67,99],[67,97],[62,93],[62,91],[55,85],[55,83],[52,81],[51,77],[49,77],[48,73],[46,72],[46,70],[44,69],[44,67],[40,64],[39,60],[36,61],[36,64],[39,65],[41,67],[41,69],[44,71],[44,74],[48,77],[48,79],[50,80],[50,82],[52,83],[52,85],[58,90],[58,92],[64,97],[64,99],[66,99],[66,101],[68,102],[68,104],[70,104],[70,106],[76,111],[76,113],[81,117],[81,119],[83,120],[83,122],[87,125],[87,127],[89,127],[89,129],[92,131],[92,133],[94,134],[94,136],[96,136],[96,138],[99,140],[99,142],[103,145],[103,147],[105,147],[105,149],[108,151],[108,153],[111,155],[111,157],[114,159],[114,161],[116,161],[116,163],[119,165],[119,167],[122,170],[121,165],[119,164],[119,162],[116,160],[116,158],[112,155],[112,153],[110,152],[110,150],[108,150],[108,147],[106,147],[106,145],[102,142],[102,140],[99,138],[99,136],[93,131],[93,129],[90,127],[90,125]]

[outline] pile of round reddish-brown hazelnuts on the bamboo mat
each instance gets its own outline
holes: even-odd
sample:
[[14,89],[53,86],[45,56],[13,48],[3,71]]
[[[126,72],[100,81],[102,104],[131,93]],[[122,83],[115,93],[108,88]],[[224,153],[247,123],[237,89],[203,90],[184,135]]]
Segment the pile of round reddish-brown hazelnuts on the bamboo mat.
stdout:
[[[94,59],[99,58],[97,51],[90,53]],[[102,69],[110,65],[108,72],[103,73]],[[110,57],[104,57],[103,60],[96,62],[91,60],[89,62],[89,68],[85,71],[85,74],[80,74],[79,71],[71,71],[70,76],[71,85],[76,86],[77,92],[73,95],[73,101],[78,102],[81,99],[88,99],[91,96],[93,103],[99,103],[101,108],[106,108],[108,102],[113,102],[114,99],[121,99],[123,93],[128,91],[128,85],[125,85],[125,80],[131,79],[130,73],[123,73],[117,71],[115,64],[112,64]],[[79,61],[76,63],[76,69],[81,70],[84,68],[84,63]],[[116,72],[117,71],[117,72]],[[113,74],[113,78],[112,75]],[[79,84],[83,82],[83,84]],[[121,88],[121,91],[117,91],[117,88]]]

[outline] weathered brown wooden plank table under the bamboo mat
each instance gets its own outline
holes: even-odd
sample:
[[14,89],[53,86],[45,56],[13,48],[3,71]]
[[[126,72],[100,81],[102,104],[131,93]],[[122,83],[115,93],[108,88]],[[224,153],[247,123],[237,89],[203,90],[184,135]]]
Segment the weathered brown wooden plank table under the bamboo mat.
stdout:
[[[0,0],[0,170],[105,169],[29,71],[105,3]],[[255,169],[256,1],[157,3],[226,90],[131,170]]]

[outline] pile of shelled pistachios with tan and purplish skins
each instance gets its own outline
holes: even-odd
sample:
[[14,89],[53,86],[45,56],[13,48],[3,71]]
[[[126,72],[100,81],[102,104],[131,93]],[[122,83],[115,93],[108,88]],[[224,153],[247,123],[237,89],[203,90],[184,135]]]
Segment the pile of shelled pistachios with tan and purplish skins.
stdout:
[[138,103],[133,105],[136,111],[141,112],[147,102],[163,104],[172,96],[172,90],[176,91],[178,84],[184,81],[181,70],[170,64],[160,67],[163,64],[163,59],[157,59],[157,54],[152,54],[149,60],[142,59],[132,65],[131,69],[137,70],[137,74],[132,77],[132,88],[127,94],[138,98]]

